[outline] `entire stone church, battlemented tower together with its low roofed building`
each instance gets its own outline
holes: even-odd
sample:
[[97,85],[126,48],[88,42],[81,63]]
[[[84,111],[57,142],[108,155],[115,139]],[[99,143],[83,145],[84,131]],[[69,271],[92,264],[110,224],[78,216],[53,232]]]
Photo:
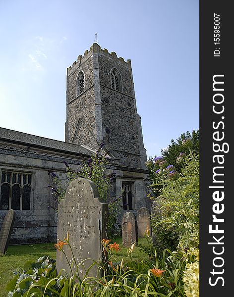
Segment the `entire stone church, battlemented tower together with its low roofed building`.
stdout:
[[50,172],[65,179],[64,161],[78,169],[101,143],[117,175],[113,191],[124,191],[123,212],[150,209],[131,61],[95,43],[67,68],[65,142],[0,128],[0,226],[15,209],[11,244],[56,241]]

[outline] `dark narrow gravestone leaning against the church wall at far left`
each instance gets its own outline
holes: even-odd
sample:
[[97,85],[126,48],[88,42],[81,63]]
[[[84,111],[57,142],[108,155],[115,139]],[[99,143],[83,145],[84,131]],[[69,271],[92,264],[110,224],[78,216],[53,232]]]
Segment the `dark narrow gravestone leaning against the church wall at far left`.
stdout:
[[10,209],[4,217],[0,231],[0,254],[4,254],[7,250],[14,221],[15,211]]

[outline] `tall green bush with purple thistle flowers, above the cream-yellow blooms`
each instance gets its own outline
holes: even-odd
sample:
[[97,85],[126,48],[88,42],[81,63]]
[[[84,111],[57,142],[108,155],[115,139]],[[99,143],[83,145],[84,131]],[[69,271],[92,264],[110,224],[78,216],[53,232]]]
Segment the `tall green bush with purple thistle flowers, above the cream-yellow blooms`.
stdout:
[[[189,143],[190,140],[185,140],[184,146],[189,146]],[[188,156],[181,153],[177,160],[181,163],[179,173],[163,157],[155,158],[159,169],[154,172],[151,187],[160,193],[156,198],[160,212],[153,217],[152,227],[158,234],[167,230],[177,236],[181,249],[198,247],[199,154],[190,150]],[[164,235],[162,238],[165,238]]]

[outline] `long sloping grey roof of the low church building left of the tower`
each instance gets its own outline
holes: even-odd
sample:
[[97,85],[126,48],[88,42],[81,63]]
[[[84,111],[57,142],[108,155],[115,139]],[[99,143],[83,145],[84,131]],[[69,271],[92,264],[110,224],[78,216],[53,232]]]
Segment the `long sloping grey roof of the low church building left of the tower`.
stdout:
[[6,128],[0,128],[0,140],[18,143],[37,148],[45,148],[52,150],[62,150],[67,152],[81,153],[92,155],[94,152],[91,149],[84,148],[80,145],[74,145],[59,140],[18,132]]

